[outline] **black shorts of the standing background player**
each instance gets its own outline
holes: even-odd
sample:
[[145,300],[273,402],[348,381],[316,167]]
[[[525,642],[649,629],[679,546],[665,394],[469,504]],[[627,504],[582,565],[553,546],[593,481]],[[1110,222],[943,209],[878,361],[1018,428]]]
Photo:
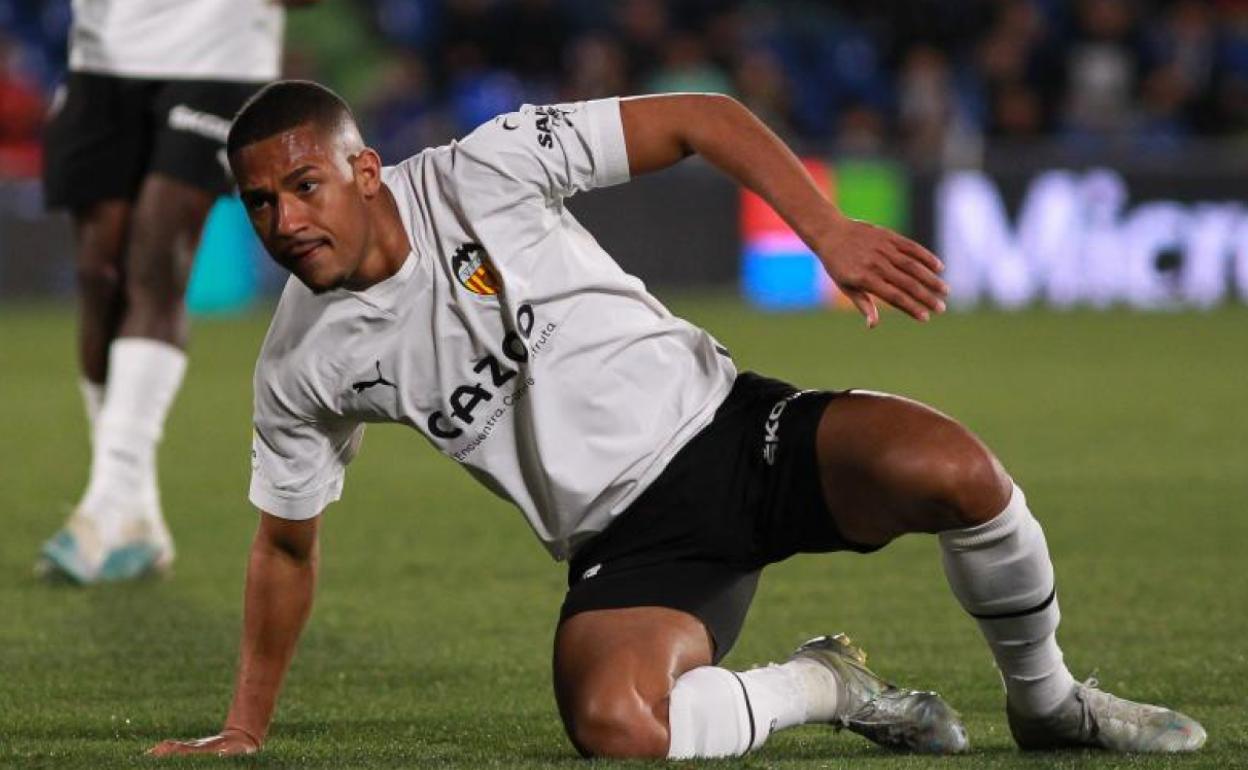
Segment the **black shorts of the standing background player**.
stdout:
[[233,187],[226,134],[260,84],[70,72],[44,141],[49,207],[134,200],[163,173],[211,195]]

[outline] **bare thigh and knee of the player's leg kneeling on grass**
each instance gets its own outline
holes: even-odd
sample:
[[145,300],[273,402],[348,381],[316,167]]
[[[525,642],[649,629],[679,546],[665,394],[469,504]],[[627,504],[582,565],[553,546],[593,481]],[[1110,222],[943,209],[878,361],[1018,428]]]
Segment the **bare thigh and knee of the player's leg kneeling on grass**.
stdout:
[[703,621],[665,607],[578,613],[555,633],[554,690],[577,749],[587,755],[661,755],[678,676],[710,665]]

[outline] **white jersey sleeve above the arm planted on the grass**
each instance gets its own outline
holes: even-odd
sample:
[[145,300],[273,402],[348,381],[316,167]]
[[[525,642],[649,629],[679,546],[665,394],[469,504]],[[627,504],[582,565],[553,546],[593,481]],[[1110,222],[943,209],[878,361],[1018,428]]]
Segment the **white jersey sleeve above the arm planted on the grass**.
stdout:
[[256,384],[248,498],[278,518],[311,519],[342,497],[364,426],[333,417],[308,419],[266,383]]

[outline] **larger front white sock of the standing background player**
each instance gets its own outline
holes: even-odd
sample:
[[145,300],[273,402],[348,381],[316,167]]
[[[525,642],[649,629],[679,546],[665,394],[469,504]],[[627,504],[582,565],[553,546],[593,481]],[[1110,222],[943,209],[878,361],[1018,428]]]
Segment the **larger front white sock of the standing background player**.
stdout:
[[185,372],[186,354],[165,342],[122,337],[109,348],[91,475],[79,505],[105,543],[116,542],[132,513],[160,517],[156,444]]

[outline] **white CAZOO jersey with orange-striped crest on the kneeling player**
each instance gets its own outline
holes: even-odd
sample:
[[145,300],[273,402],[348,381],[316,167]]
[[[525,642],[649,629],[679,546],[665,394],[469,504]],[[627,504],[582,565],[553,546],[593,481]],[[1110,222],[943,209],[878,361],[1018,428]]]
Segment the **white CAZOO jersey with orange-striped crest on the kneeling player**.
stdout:
[[628,178],[618,100],[527,105],[387,167],[413,252],[361,292],[287,282],[256,366],[252,503],[317,515],[363,424],[391,422],[519,507],[555,558],[604,529],[736,377],[564,207]]

